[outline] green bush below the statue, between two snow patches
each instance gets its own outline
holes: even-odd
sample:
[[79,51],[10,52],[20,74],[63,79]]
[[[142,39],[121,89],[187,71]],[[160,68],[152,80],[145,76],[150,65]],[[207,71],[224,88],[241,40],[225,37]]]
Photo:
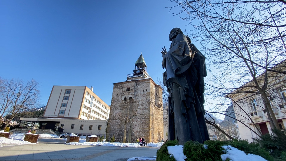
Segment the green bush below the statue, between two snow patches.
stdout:
[[188,161],[204,160],[204,161],[221,161],[220,157],[225,153],[225,149],[222,148],[220,141],[205,141],[207,147],[204,144],[188,141],[185,143],[183,153],[186,155]]

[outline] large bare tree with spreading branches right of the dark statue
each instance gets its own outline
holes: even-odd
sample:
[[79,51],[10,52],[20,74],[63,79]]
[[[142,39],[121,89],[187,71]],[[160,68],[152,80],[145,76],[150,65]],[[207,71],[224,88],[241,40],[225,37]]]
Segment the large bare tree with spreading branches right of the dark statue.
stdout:
[[223,97],[234,91],[261,96],[271,129],[278,129],[267,89],[269,72],[286,74],[285,69],[275,68],[286,57],[286,1],[174,2],[177,5],[171,9],[179,7],[175,14],[186,14],[182,19],[192,26],[190,37],[202,42],[213,75],[207,81],[210,94]]

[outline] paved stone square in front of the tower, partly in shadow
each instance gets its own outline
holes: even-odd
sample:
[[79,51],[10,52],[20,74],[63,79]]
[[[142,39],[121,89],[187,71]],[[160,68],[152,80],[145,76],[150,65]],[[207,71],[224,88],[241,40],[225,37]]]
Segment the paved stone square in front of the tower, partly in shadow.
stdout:
[[0,161],[126,161],[132,157],[156,156],[155,147],[65,145],[60,138],[39,139],[38,144],[0,144]]

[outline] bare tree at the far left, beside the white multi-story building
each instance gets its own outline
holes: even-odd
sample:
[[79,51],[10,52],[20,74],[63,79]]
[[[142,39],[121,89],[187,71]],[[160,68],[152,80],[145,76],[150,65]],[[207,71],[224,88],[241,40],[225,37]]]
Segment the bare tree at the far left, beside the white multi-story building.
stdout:
[[39,97],[38,82],[34,79],[28,82],[22,80],[2,80],[0,84],[0,122],[4,115],[10,114],[5,126],[19,113],[28,111]]

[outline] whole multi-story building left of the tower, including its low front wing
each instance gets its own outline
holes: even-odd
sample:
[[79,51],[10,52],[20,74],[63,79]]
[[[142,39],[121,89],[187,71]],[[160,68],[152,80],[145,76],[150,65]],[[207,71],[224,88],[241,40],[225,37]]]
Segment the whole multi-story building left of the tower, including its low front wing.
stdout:
[[93,87],[53,86],[43,117],[21,118],[20,127],[102,136],[109,112],[110,107],[93,93]]

